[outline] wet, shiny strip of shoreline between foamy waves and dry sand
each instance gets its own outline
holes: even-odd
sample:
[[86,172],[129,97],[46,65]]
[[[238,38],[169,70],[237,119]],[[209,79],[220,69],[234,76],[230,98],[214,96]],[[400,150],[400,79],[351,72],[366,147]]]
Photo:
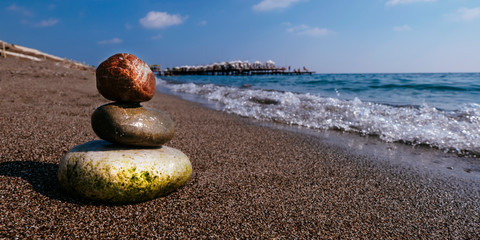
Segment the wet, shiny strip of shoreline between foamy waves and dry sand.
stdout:
[[[202,107],[222,111],[221,103],[212,102],[193,94],[172,92],[163,86],[157,86],[157,93],[180,98],[187,102],[199,104]],[[228,113],[227,113],[228,114]],[[241,117],[235,114],[233,116]],[[245,117],[241,117],[245,118]],[[445,152],[442,149],[424,145],[412,145],[402,142],[386,142],[378,136],[361,135],[356,132],[341,130],[310,129],[299,125],[262,121],[253,118],[248,120],[281,131],[290,131],[303,135],[311,135],[318,141],[332,144],[358,155],[366,155],[370,158],[383,159],[393,165],[403,165],[433,174],[437,177],[456,177],[480,182],[480,158],[478,156],[460,155],[456,152]],[[348,142],[348,147],[342,146]]]

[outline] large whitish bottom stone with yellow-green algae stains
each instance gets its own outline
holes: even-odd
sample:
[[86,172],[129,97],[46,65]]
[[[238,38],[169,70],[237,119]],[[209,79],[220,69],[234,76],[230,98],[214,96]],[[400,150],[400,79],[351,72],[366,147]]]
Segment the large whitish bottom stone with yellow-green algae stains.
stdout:
[[141,202],[166,195],[185,184],[192,165],[171,147],[131,148],[104,140],[76,146],[60,162],[61,186],[102,202]]

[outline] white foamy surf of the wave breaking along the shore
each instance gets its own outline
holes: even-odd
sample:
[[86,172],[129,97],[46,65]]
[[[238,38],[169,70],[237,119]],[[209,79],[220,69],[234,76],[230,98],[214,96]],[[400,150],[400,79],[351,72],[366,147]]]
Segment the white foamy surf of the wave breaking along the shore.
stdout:
[[458,111],[448,112],[426,104],[398,107],[308,93],[169,84],[163,80],[159,84],[175,93],[195,94],[220,103],[223,111],[244,117],[378,135],[387,142],[426,144],[444,151],[480,153],[479,104],[465,104]]

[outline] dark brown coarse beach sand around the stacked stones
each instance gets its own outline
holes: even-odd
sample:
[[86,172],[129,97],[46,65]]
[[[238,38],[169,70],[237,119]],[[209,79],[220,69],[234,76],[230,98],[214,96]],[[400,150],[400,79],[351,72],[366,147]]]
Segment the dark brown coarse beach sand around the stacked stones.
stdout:
[[315,136],[156,94],[167,146],[193,165],[172,194],[133,205],[71,197],[58,163],[98,139],[93,71],[0,59],[0,238],[478,238],[478,184],[356,156]]

